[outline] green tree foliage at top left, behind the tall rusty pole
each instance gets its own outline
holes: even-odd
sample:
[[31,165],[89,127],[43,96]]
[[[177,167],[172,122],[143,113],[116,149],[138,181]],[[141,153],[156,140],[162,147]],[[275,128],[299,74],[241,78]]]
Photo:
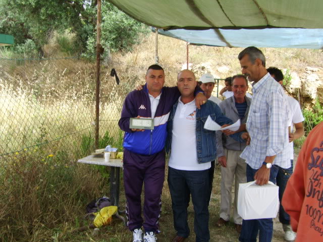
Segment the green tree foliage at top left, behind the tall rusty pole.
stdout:
[[[75,35],[78,49],[94,53],[96,42],[95,0],[0,0],[0,33],[11,34],[21,46],[32,40],[39,50],[54,31]],[[131,49],[147,26],[102,1],[101,44],[112,51]],[[30,42],[30,41],[29,41]]]

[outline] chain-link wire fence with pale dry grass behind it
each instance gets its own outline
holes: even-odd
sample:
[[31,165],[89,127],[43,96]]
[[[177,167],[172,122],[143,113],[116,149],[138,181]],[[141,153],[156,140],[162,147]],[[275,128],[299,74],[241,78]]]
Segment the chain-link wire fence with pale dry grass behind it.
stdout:
[[[23,153],[73,162],[94,150],[95,62],[81,57],[0,59],[0,159]],[[120,85],[110,76],[115,68]],[[122,148],[118,120],[126,95],[147,67],[103,61],[99,148]],[[179,70],[166,67],[170,85]],[[41,158],[41,157],[39,157]]]

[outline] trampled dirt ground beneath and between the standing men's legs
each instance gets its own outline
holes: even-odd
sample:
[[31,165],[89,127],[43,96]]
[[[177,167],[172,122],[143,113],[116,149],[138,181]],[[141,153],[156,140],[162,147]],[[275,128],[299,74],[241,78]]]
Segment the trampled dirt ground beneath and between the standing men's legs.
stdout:
[[[295,161],[297,160],[298,150],[295,150],[295,159],[294,159],[294,167]],[[172,201],[169,192],[169,187],[167,183],[167,173],[168,168],[166,166],[166,177],[165,184],[162,195],[162,212],[159,219],[159,226],[161,232],[157,234],[158,242],[170,242],[172,238],[176,235],[175,229],[173,226],[173,213],[172,213]],[[219,219],[219,210],[220,210],[220,183],[221,183],[221,172],[220,166],[216,167],[216,171],[214,173],[213,180],[213,191],[212,197],[209,205],[209,230],[210,230],[210,241],[211,242],[233,242],[238,241],[239,234],[235,230],[234,223],[231,219],[229,225],[218,228],[215,226],[217,220]],[[234,189],[234,188],[233,188]],[[233,190],[234,191],[234,190]],[[120,193],[120,206],[124,208],[125,206],[125,196],[123,191],[123,185],[121,185],[121,193]],[[233,201],[233,198],[232,198]],[[142,197],[143,203],[143,197]],[[194,233],[194,210],[192,203],[190,203],[188,207],[188,224],[191,230],[190,236],[186,240],[187,242],[195,241],[195,233]],[[81,235],[81,234],[80,234]],[[90,241],[110,241],[110,242],[131,242],[132,241],[132,233],[125,227],[121,220],[114,220],[112,226],[104,227],[96,234],[87,234],[87,239],[85,239],[85,234],[80,237],[75,237],[78,241],[88,241],[87,239],[90,237]],[[75,241],[75,240],[72,240]],[[274,219],[274,235],[273,242],[281,242],[284,240],[284,231],[282,228],[282,224],[279,222],[278,217]]]

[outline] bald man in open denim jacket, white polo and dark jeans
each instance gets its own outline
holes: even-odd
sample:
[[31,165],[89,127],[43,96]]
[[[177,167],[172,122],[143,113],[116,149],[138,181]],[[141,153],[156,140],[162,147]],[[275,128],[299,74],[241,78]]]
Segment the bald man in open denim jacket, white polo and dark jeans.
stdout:
[[[174,227],[173,241],[189,236],[187,207],[192,195],[196,241],[209,241],[208,230],[208,169],[217,156],[216,132],[205,130],[208,115],[220,125],[232,124],[214,102],[206,102],[197,109],[194,101],[196,87],[194,73],[184,70],[178,74],[177,87],[181,97],[171,109],[168,119],[166,151],[170,152],[168,184],[172,197]],[[243,142],[246,133],[232,135]]]

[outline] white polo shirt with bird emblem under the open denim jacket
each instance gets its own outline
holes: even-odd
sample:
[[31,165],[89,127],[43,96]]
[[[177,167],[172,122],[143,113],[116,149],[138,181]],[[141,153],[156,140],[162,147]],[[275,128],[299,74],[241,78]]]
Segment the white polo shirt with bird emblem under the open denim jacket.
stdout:
[[197,162],[195,99],[184,104],[179,98],[174,115],[168,166],[178,170],[206,170],[211,167],[211,162]]

